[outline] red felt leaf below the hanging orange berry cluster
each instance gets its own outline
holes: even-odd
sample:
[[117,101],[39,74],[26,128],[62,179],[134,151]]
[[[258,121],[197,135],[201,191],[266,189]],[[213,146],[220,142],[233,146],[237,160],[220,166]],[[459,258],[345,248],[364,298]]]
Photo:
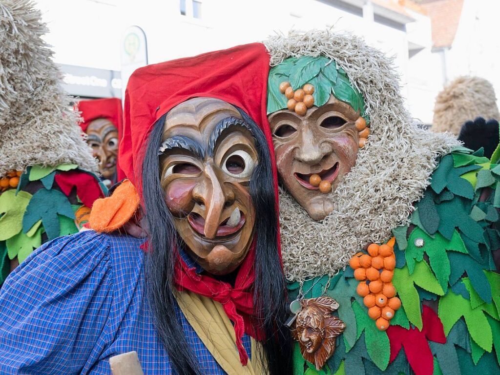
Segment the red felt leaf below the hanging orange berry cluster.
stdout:
[[427,340],[445,343],[446,336],[437,314],[425,305],[422,323],[421,331],[416,327],[405,329],[399,325],[390,325],[387,328],[390,343],[389,363],[396,358],[402,346],[415,375],[432,375],[434,365]]

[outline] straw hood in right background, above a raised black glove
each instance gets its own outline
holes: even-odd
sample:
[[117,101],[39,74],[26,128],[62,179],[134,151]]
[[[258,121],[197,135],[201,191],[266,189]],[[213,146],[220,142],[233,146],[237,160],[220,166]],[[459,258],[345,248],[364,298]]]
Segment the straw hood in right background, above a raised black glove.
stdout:
[[465,121],[479,116],[500,119],[493,85],[484,78],[461,76],[437,94],[431,130],[458,135]]

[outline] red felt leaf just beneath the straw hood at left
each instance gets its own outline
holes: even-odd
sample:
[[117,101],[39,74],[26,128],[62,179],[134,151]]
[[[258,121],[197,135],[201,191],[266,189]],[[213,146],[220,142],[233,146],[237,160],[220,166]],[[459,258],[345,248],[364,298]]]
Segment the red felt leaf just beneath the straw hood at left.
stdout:
[[99,182],[88,173],[78,170],[57,173],[55,182],[66,196],[70,194],[73,186],[76,186],[76,195],[88,208],[92,207],[95,199],[104,197]]

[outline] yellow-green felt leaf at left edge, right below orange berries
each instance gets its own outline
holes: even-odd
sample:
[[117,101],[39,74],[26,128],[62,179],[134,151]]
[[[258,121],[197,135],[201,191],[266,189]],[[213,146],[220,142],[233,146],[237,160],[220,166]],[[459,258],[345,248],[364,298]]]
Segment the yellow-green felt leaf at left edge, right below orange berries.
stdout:
[[[22,215],[31,199],[26,191],[5,190],[0,194],[0,241],[10,238],[22,229]],[[29,229],[29,228],[28,228]]]

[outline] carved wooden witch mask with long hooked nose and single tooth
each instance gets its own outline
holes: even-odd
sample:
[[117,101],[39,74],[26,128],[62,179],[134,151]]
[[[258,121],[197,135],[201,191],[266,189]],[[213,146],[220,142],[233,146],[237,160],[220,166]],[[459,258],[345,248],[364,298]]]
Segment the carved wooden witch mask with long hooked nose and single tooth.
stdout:
[[233,271],[249,250],[255,221],[250,127],[231,104],[189,99],[168,112],[159,153],[166,205],[186,251],[212,274]]

